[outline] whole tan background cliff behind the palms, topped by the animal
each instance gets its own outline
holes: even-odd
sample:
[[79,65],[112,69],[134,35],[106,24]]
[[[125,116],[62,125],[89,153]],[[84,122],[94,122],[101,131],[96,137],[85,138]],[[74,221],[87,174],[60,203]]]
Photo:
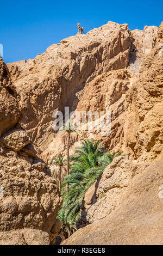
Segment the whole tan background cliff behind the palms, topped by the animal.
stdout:
[[[137,77],[131,72],[139,74],[140,59],[154,47],[157,31],[157,27],[129,31],[127,25],[109,21],[86,35],[61,40],[35,59],[8,64],[12,82],[21,95],[21,125],[46,162],[61,153],[61,138],[52,129],[52,114],[64,112],[65,106],[70,111],[110,107],[114,112],[112,132],[102,140],[110,150],[120,148],[126,92]],[[98,138],[96,132],[79,132],[77,144],[85,137]]]

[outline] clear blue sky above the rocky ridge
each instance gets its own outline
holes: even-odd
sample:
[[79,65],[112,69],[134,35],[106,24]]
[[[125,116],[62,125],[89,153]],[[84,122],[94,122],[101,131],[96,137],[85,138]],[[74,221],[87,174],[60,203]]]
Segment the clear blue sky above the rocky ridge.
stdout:
[[35,58],[49,45],[77,33],[79,22],[85,32],[108,21],[128,23],[129,29],[159,26],[162,0],[109,1],[1,1],[0,44],[4,61]]

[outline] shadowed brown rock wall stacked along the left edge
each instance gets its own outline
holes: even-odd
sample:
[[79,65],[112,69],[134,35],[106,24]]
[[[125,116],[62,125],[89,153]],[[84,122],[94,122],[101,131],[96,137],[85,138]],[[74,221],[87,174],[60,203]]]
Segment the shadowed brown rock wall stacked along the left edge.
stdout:
[[62,199],[49,168],[18,124],[20,97],[2,59],[0,70],[0,244],[48,245],[60,230],[55,220]]

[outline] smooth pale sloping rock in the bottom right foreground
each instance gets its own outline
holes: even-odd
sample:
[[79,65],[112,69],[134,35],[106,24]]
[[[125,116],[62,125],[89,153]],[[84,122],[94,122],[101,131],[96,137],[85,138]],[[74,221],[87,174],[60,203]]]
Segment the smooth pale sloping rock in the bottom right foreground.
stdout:
[[161,245],[162,163],[117,157],[85,195],[83,221],[91,224],[61,245]]

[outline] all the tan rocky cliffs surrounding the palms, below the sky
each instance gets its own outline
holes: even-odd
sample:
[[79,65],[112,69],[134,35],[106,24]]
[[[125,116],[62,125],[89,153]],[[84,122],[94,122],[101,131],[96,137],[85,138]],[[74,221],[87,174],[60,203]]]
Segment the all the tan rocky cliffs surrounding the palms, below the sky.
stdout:
[[54,241],[61,198],[48,167],[53,156],[65,154],[66,142],[63,132],[52,129],[52,115],[65,106],[111,111],[110,136],[80,131],[71,153],[81,139],[94,138],[126,156],[87,191],[79,222],[87,226],[63,244],[162,243],[162,28],[163,23],[159,30],[129,31],[109,21],[61,40],[35,59],[9,63],[10,73],[1,60],[0,185],[6,184],[8,198],[0,199],[2,243],[11,232],[20,244],[32,243],[29,229],[33,237],[44,237],[36,243]]

